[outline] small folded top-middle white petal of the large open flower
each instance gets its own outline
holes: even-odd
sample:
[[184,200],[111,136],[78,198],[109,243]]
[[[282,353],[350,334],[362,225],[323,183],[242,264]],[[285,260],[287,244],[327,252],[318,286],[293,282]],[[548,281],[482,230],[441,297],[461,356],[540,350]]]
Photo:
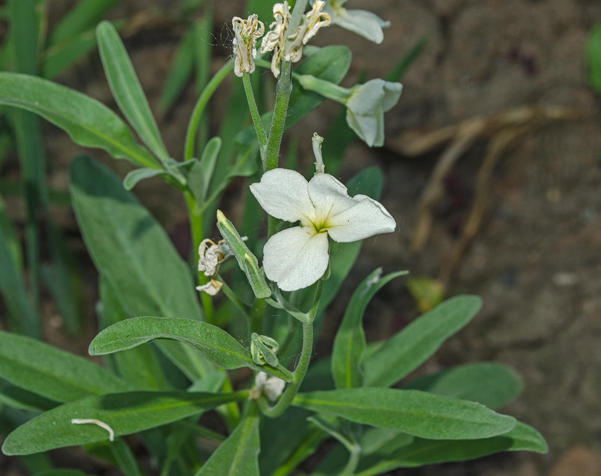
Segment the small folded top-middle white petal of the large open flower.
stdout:
[[355,205],[346,187],[330,174],[315,175],[309,182],[308,190],[315,207],[314,223],[317,227],[321,227],[328,216],[336,215]]

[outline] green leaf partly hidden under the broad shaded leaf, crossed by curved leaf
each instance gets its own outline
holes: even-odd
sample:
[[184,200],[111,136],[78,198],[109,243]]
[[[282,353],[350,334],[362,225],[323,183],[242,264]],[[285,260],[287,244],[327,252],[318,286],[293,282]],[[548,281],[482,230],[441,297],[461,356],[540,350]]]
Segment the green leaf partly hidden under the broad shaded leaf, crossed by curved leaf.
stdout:
[[[105,276],[100,276],[100,307],[97,309],[102,328],[128,319],[117,293]],[[100,311],[100,312],[98,312]],[[118,373],[140,390],[169,390],[170,386],[160,366],[159,359],[149,345],[124,350],[114,356]],[[198,391],[207,391],[206,389]]]

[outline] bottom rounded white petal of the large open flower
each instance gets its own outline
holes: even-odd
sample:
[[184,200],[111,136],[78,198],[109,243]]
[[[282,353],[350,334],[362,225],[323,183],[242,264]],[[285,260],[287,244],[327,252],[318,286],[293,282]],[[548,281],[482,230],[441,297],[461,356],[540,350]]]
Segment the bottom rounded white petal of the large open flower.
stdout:
[[273,235],[263,247],[267,278],[282,291],[296,291],[317,281],[328,269],[327,233],[313,227],[293,227]]

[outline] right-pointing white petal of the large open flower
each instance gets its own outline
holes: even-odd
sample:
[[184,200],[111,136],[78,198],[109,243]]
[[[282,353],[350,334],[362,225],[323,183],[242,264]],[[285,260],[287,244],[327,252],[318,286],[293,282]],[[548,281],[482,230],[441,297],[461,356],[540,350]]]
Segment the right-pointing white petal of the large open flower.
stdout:
[[381,203],[367,197],[355,195],[355,206],[328,219],[328,234],[338,243],[350,243],[379,233],[391,233],[397,222]]

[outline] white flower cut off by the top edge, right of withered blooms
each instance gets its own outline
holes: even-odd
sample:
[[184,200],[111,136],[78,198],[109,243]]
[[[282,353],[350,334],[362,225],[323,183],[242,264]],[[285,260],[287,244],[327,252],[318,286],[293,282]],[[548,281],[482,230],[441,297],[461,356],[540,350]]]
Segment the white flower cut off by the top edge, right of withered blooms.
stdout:
[[383,28],[388,28],[390,22],[385,22],[375,13],[366,10],[347,10],[342,5],[347,0],[328,0],[324,8],[332,17],[334,25],[352,31],[374,43],[384,40]]

